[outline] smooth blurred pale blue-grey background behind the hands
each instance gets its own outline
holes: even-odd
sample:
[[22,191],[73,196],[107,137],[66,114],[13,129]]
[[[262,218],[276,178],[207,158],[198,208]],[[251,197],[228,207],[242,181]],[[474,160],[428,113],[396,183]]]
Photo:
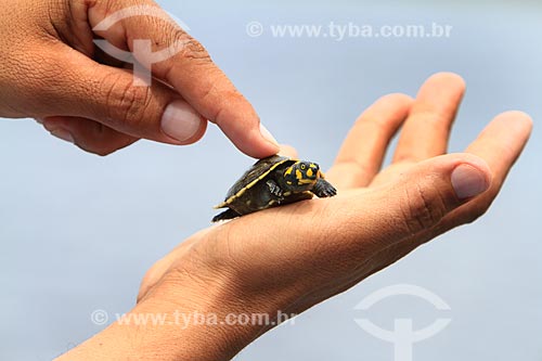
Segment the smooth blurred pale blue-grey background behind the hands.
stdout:
[[[358,114],[389,92],[416,93],[433,73],[468,86],[451,150],[461,151],[503,111],[542,118],[542,7],[537,2],[159,1],[300,155],[328,167]],[[260,22],[261,37],[245,26]],[[273,38],[273,24],[431,23],[439,39]],[[346,294],[245,349],[238,360],[392,360],[392,346],[361,330],[354,306],[384,286],[414,284],[451,307],[450,326],[414,346],[414,360],[542,360],[542,136],[489,214],[417,249]],[[173,147],[142,141],[108,157],[86,154],[29,119],[0,121],[0,359],[48,360],[102,330],[90,314],[134,305],[158,258],[209,224],[253,160],[215,128]],[[211,167],[209,167],[211,165]],[[439,312],[397,296],[369,317],[416,328]]]

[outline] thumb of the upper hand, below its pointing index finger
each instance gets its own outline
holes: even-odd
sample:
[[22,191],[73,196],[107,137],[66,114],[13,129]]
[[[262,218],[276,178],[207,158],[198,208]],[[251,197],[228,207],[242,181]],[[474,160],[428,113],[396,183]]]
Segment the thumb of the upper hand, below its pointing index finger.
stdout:
[[191,144],[205,133],[207,121],[164,83],[139,87],[129,72],[57,47],[54,57],[40,64],[48,77],[34,91],[39,103],[33,106],[39,113],[35,117],[88,118],[133,138],[170,144]]

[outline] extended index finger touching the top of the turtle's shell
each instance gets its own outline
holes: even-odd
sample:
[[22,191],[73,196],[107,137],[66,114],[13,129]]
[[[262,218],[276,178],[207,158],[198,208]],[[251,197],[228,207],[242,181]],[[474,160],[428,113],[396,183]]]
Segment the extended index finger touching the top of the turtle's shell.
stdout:
[[[111,2],[96,2],[89,10],[92,26],[121,9],[122,4],[105,8]],[[112,43],[128,39],[146,39],[147,47],[127,46],[153,75],[171,85],[199,114],[217,124],[228,138],[244,153],[262,158],[276,154],[279,144],[269,131],[260,128],[260,120],[248,101],[211,61],[205,48],[167,16],[151,0],[138,1],[144,5],[140,16],[128,16],[119,22],[121,29],[101,29],[100,36]],[[143,15],[143,16],[141,16]],[[146,15],[146,16],[144,16]],[[100,28],[100,26],[99,26]],[[140,44],[144,42],[140,41]],[[164,56],[155,60],[156,52]]]

